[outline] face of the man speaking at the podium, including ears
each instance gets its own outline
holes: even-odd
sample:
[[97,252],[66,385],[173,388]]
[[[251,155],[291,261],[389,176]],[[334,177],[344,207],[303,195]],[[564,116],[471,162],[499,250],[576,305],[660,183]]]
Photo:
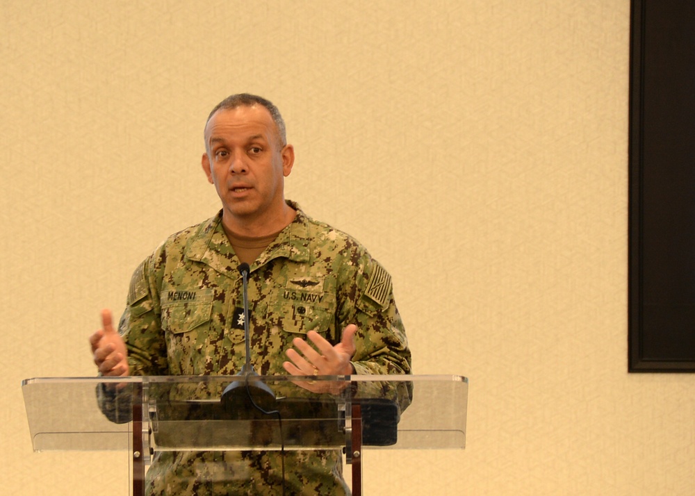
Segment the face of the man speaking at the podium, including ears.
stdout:
[[232,222],[268,222],[284,208],[284,177],[294,163],[261,105],[220,109],[205,126],[202,166]]

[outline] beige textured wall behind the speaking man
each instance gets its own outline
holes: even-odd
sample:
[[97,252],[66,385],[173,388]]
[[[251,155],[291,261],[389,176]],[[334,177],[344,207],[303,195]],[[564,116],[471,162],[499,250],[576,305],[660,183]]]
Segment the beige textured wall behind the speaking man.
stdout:
[[695,377],[627,373],[628,33],[628,0],[3,0],[1,492],[126,493],[124,454],[31,452],[19,383],[94,374],[250,91],[288,196],[393,274],[416,373],[471,379],[466,450],[368,452],[368,494],[695,493]]

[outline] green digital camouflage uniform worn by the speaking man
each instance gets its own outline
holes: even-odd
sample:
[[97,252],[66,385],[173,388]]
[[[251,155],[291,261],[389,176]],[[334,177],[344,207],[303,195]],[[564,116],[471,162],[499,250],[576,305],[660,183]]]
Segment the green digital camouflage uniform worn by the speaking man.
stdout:
[[[409,374],[410,352],[391,277],[356,240],[297,215],[251,265],[250,361],[286,374],[296,336],[314,330],[336,345],[357,324],[357,374]],[[236,374],[245,362],[240,261],[222,213],[172,235],[138,267],[120,322],[133,375]],[[281,494],[279,452],[160,452],[149,495]],[[287,452],[293,495],[349,494],[337,450]]]

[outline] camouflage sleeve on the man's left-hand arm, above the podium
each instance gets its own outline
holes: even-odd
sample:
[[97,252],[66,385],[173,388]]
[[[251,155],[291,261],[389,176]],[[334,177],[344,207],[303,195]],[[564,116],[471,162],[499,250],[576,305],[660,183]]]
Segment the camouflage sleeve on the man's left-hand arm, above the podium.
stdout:
[[158,284],[154,271],[156,254],[133,273],[126,309],[118,326],[128,349],[132,375],[167,375],[167,346],[161,329]]

